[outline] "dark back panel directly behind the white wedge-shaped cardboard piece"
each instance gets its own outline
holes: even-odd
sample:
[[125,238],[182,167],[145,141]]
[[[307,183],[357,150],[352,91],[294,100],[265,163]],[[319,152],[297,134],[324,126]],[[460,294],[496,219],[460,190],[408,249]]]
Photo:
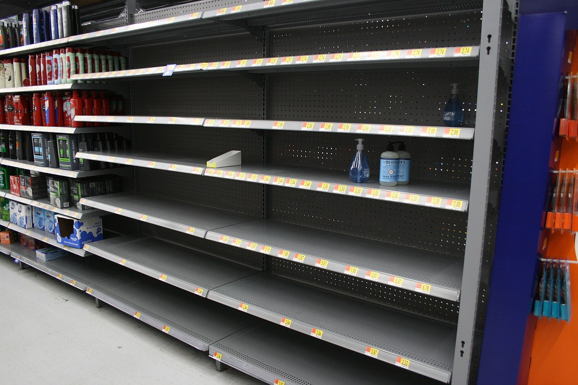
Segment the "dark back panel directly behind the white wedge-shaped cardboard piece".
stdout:
[[139,125],[134,130],[134,144],[139,152],[190,156],[201,158],[202,163],[231,150],[242,152],[243,163],[263,160],[263,139],[250,130]]

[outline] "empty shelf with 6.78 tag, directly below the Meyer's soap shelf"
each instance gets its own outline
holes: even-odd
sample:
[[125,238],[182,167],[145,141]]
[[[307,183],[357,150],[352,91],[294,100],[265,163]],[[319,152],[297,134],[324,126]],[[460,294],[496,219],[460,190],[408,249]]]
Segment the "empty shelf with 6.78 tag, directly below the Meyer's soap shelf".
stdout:
[[463,261],[438,253],[273,220],[222,227],[209,231],[206,238],[433,297],[460,300]]

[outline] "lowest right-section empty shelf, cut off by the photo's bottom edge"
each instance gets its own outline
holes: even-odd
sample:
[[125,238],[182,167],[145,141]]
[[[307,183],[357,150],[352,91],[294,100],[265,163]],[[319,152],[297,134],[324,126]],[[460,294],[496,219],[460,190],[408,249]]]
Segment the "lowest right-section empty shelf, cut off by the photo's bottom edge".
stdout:
[[209,356],[268,384],[439,384],[271,323],[238,331],[213,343]]

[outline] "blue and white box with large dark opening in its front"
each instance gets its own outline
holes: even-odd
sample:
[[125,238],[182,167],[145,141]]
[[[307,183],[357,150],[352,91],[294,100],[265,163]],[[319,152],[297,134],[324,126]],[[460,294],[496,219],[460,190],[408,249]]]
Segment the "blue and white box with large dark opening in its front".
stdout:
[[73,219],[68,216],[54,215],[56,225],[56,240],[61,245],[81,249],[84,244],[101,241],[102,216],[93,218]]

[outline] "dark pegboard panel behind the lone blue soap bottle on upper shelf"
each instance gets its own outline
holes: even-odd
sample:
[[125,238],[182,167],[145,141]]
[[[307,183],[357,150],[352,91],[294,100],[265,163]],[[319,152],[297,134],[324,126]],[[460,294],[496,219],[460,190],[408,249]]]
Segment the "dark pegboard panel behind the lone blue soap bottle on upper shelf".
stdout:
[[444,126],[458,83],[464,127],[476,122],[477,69],[287,74],[272,77],[273,119]]

